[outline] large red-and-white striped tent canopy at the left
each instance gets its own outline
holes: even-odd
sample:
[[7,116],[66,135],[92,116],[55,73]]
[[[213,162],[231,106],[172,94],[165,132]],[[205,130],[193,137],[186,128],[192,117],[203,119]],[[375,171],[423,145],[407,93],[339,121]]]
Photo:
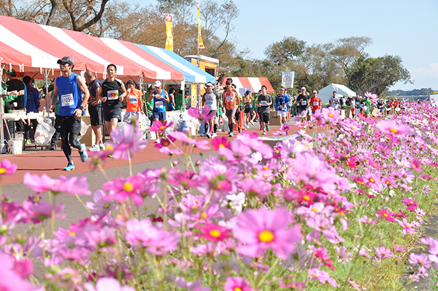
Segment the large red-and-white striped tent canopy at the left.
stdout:
[[[131,42],[96,38],[78,31],[0,16],[0,63],[31,77],[59,75],[57,60],[73,58],[75,71],[90,70],[105,77],[107,64],[116,64],[118,77],[143,81],[182,81],[184,74]],[[127,53],[129,52],[129,53]],[[129,55],[129,56],[127,56]]]

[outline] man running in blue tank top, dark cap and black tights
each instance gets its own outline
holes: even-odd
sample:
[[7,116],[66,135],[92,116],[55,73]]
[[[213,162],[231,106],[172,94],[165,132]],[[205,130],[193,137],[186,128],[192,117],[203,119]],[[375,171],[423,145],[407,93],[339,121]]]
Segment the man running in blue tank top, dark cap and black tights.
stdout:
[[[62,76],[57,77],[55,80],[50,112],[53,112],[57,99],[60,98],[60,110],[57,114],[57,118],[59,118],[57,121],[57,131],[61,133],[62,150],[68,160],[64,170],[74,170],[75,164],[71,157],[71,149],[68,142],[79,151],[81,161],[86,162],[88,155],[85,144],[81,144],[77,140],[77,136],[81,132],[82,110],[88,102],[90,93],[82,77],[72,72],[73,58],[64,57],[61,60],[57,60],[57,63],[60,64]],[[83,99],[81,99],[81,92],[83,93]]]

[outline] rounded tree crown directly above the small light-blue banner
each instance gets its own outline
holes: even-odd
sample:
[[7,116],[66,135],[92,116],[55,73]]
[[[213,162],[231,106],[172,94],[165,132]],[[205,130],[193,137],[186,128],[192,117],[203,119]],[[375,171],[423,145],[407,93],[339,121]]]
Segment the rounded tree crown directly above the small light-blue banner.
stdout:
[[293,36],[283,38],[279,42],[273,42],[265,49],[265,55],[271,62],[277,65],[292,60],[298,61],[305,53],[306,42]]

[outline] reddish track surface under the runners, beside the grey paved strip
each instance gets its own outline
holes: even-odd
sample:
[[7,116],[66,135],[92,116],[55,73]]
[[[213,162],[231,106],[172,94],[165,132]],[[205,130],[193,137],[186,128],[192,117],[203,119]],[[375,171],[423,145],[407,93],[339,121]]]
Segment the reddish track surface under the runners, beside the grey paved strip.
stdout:
[[[266,136],[273,136],[274,132],[278,131],[280,129],[279,126],[271,126],[271,130],[268,131],[268,134]],[[294,134],[296,130],[302,129],[301,127],[292,126],[289,130],[289,134]],[[317,131],[323,131],[324,129],[322,127],[318,127]],[[258,123],[256,125],[251,125],[251,128],[248,129],[250,132],[256,132],[259,136],[261,135],[261,132],[259,130]],[[311,129],[307,129],[307,133],[310,133]],[[234,131],[235,135],[233,138],[236,138],[238,135],[237,131]],[[227,137],[228,134],[226,132],[219,132],[218,136],[224,136]],[[207,138],[202,138],[198,136],[196,138],[197,140],[208,140]],[[168,160],[168,155],[165,155],[164,153],[160,153],[157,149],[154,149],[154,142],[153,140],[149,141],[147,144],[147,147],[143,149],[142,151],[139,151],[136,153],[136,161],[135,164],[143,164],[146,162],[153,162],[158,160]],[[181,147],[181,142],[176,142],[176,144]],[[214,151],[213,147],[210,145],[209,150],[203,150],[203,149],[194,149],[193,153],[201,153],[201,152],[209,152]],[[8,155],[4,154],[0,156],[0,161],[3,159],[8,159],[12,164],[16,164],[18,166],[18,169],[16,170],[16,173],[12,176],[5,176],[3,177],[3,186],[10,186],[14,184],[21,184],[23,183],[23,176],[25,173],[29,172],[31,174],[46,174],[49,177],[59,177],[60,175],[77,175],[80,173],[88,173],[92,171],[92,168],[90,168],[90,163],[85,162],[82,163],[79,157],[79,153],[76,149],[72,150],[72,157],[73,162],[75,162],[75,170],[71,172],[63,171],[62,168],[67,165],[67,160],[64,155],[64,152],[61,149],[57,149],[56,151],[32,151],[31,153],[26,153],[26,151],[23,151],[23,154],[21,155]],[[121,166],[127,166],[129,165],[127,160],[121,160],[121,159],[106,159],[103,162],[103,168],[109,169],[109,168],[116,168]]]

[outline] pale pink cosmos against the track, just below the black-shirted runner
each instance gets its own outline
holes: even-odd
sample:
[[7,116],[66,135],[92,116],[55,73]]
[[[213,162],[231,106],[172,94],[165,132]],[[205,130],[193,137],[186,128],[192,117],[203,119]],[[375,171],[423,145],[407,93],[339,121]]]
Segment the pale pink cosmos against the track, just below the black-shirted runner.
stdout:
[[123,160],[133,158],[133,154],[144,149],[148,143],[147,140],[142,139],[142,136],[143,132],[130,123],[125,124],[122,130],[116,128],[111,131],[114,142],[108,142],[108,144],[114,148],[114,158],[121,157]]

